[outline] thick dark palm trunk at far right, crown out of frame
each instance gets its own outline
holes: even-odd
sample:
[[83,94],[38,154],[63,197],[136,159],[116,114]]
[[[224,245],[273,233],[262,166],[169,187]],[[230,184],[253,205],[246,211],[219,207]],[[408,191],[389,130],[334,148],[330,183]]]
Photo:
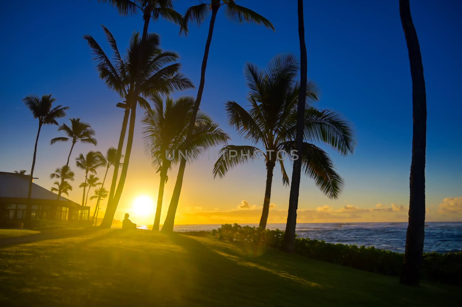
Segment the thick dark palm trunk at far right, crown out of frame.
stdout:
[[422,56],[412,22],[409,0],[400,0],[400,16],[411,66],[413,105],[409,222],[400,281],[408,285],[419,285],[425,236],[426,91]]

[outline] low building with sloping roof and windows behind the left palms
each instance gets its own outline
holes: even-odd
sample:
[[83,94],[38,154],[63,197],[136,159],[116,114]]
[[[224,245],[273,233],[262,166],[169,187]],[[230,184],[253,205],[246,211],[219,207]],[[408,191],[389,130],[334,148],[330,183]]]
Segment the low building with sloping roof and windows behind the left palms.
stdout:
[[88,219],[90,207],[81,206],[32,183],[28,204],[29,175],[0,172],[0,224],[25,219]]

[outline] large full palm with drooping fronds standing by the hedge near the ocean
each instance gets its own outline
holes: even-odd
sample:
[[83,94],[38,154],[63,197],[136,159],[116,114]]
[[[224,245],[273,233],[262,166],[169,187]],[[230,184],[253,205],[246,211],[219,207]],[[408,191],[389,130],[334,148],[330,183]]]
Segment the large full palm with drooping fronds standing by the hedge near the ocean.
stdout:
[[[228,170],[240,163],[248,163],[264,157],[267,169],[265,197],[260,225],[266,228],[273,170],[280,164],[282,182],[289,184],[284,159],[295,149],[297,132],[297,102],[300,83],[297,80],[299,64],[292,54],[280,54],[274,57],[262,70],[247,63],[245,69],[250,89],[246,110],[237,102],[225,104],[228,123],[235,127],[244,139],[255,145],[262,144],[264,150],[249,145],[227,145],[213,168],[213,176],[223,177]],[[316,186],[329,198],[337,199],[343,187],[343,180],[335,171],[334,163],[328,154],[311,142],[324,142],[331,145],[340,154],[353,151],[355,140],[353,129],[340,114],[331,110],[318,110],[310,102],[318,100],[317,85],[310,81],[306,85],[304,101],[304,143],[303,149],[296,154],[300,157],[305,175],[315,180]],[[296,158],[295,156],[292,159]]]

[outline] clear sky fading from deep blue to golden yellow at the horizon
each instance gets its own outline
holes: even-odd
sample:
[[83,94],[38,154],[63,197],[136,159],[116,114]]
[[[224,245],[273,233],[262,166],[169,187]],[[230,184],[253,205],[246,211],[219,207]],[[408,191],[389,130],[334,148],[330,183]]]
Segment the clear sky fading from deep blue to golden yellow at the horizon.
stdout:
[[[196,0],[175,1],[179,12],[197,3]],[[231,144],[243,144],[243,141],[227,126],[223,103],[234,100],[246,105],[244,64],[249,61],[263,67],[278,53],[299,55],[296,1],[241,0],[237,3],[261,13],[276,30],[233,24],[226,20],[222,10],[219,12],[201,109],[231,134]],[[438,206],[445,198],[462,196],[461,5],[457,1],[411,1],[411,10],[427,90],[427,205]],[[340,157],[323,146],[332,154],[345,179],[345,191],[340,199],[330,200],[305,178],[300,208],[315,210],[328,205],[335,211],[345,205],[406,206],[412,92],[398,1],[305,1],[304,14],[308,77],[322,90],[317,107],[344,114],[356,129],[358,146],[351,157]],[[130,35],[142,30],[141,16],[119,16],[116,9],[96,0],[9,1],[0,12],[0,20],[3,32],[0,170],[30,170],[37,123],[22,102],[30,94],[52,93],[57,103],[71,107],[67,118],[80,117],[96,130],[97,147],[79,144],[73,157],[80,152],[105,151],[109,146],[116,146],[122,110],[114,105],[120,99],[98,78],[95,62],[82,36],[92,35],[109,52],[100,27],[103,24],[123,50]],[[178,36],[178,26],[169,22],[152,22],[149,27],[161,36],[162,48],[180,54],[182,72],[196,85],[207,28],[208,20],[200,28],[192,26],[184,37]],[[195,93],[188,90],[174,96],[195,96]],[[139,112],[138,119],[140,115]],[[130,183],[121,202],[121,208],[126,210],[136,195],[145,194],[154,199],[157,195],[158,174],[150,168],[149,158],[143,153],[140,128],[138,121],[131,160],[134,162],[128,171]],[[49,174],[65,163],[68,144],[49,145],[49,139],[60,135],[57,127],[47,126],[42,131],[34,175],[40,178],[36,183],[49,188],[52,184]],[[180,213],[230,211],[244,199],[251,205],[261,206],[266,173],[263,162],[233,169],[221,180],[213,180],[213,163],[203,157],[188,166]],[[83,178],[83,173],[77,171],[76,182],[80,182],[79,176]],[[164,204],[169,203],[175,176],[176,169],[170,173]],[[277,172],[273,182],[272,202],[283,216],[289,188],[282,186]],[[70,198],[78,200],[81,191],[75,186]],[[389,219],[402,220],[406,213],[403,210],[399,218],[389,216]],[[435,219],[445,218],[435,215]]]

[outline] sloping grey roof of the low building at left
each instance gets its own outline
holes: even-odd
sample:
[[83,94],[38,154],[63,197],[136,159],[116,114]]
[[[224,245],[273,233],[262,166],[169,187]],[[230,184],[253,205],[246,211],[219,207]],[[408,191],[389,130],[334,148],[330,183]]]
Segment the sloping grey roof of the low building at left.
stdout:
[[[29,175],[21,175],[16,173],[0,172],[0,199],[27,199],[29,194]],[[34,200],[49,200],[57,202],[58,195],[40,187],[38,184],[32,182],[31,199]],[[79,206],[79,204],[60,196],[61,202],[66,202],[67,206]]]

